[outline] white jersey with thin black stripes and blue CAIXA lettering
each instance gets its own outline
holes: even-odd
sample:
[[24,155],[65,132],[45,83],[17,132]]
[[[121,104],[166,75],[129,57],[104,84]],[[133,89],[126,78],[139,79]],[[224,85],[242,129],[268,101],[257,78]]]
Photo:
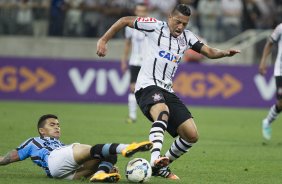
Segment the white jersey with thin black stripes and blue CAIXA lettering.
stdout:
[[177,38],[170,34],[166,22],[154,18],[137,18],[135,29],[141,30],[148,37],[148,48],[139,72],[135,91],[151,85],[157,85],[173,92],[172,78],[184,52],[199,39],[189,30]]

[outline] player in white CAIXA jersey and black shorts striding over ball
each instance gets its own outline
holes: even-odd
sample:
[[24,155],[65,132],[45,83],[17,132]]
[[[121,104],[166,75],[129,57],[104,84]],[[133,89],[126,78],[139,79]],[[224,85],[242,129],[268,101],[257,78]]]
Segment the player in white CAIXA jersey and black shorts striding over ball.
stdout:
[[[151,165],[155,176],[179,179],[168,165],[186,153],[198,140],[198,131],[190,111],[175,95],[172,79],[184,52],[188,49],[216,59],[229,57],[239,50],[220,50],[202,43],[191,31],[185,30],[191,10],[177,5],[168,22],[151,17],[122,17],[99,39],[97,55],[106,55],[107,42],[125,26],[144,32],[148,48],[135,86],[137,103],[152,122],[149,140],[153,142]],[[161,156],[164,132],[175,137],[170,149]]]

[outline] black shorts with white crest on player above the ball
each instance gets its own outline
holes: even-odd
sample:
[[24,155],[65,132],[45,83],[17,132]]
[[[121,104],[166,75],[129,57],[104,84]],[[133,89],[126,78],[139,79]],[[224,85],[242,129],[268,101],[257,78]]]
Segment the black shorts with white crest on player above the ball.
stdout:
[[150,109],[157,103],[165,103],[169,108],[167,132],[172,136],[178,136],[177,128],[187,119],[192,118],[190,111],[183,102],[174,94],[158,86],[148,86],[135,93],[137,103],[143,114],[151,121]]

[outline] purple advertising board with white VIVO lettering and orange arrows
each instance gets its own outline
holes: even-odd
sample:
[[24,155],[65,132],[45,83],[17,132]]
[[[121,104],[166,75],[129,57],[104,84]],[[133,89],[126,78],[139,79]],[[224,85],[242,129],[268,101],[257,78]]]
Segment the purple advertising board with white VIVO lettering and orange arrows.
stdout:
[[[187,105],[268,107],[275,101],[272,68],[181,64],[174,90]],[[119,62],[0,58],[0,99],[127,103],[129,72]]]

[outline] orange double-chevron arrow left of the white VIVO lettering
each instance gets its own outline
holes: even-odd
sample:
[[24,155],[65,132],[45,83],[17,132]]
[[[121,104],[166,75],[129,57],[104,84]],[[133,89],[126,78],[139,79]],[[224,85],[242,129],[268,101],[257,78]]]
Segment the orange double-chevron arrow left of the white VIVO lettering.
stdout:
[[36,72],[34,73],[26,67],[21,67],[19,74],[25,79],[19,85],[19,90],[22,93],[33,87],[35,88],[36,92],[41,93],[47,88],[50,88],[56,82],[55,77],[43,68],[37,68]]

